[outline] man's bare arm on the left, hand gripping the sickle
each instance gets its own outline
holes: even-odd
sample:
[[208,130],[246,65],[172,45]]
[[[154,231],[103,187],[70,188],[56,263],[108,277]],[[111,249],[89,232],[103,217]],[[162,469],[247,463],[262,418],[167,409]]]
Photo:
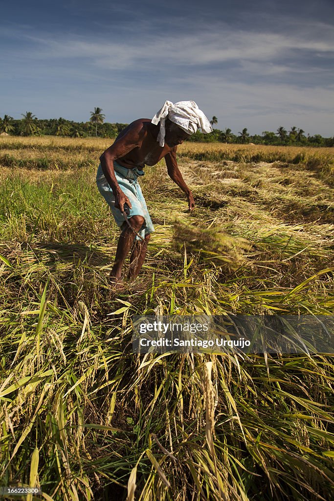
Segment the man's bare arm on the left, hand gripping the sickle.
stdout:
[[129,153],[134,148],[140,145],[141,140],[145,131],[142,125],[135,124],[132,129],[126,132],[120,139],[114,142],[102,155],[100,156],[101,167],[104,175],[109,183],[109,186],[113,190],[115,195],[115,207],[124,210],[124,204],[127,203],[130,208],[131,202],[127,196],[123,193],[119,184],[117,182],[115,171],[114,171],[114,160],[121,158],[127,153]]

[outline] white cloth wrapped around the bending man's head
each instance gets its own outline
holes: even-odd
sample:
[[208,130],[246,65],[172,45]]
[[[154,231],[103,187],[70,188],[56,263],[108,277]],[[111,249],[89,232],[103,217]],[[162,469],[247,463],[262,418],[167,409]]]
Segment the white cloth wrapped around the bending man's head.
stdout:
[[157,137],[160,146],[165,145],[167,118],[188,134],[194,134],[198,128],[201,128],[205,134],[212,132],[209,120],[194,101],[179,101],[175,104],[171,101],[165,101],[163,107],[151,120],[154,125],[158,125],[160,122],[160,132]]

